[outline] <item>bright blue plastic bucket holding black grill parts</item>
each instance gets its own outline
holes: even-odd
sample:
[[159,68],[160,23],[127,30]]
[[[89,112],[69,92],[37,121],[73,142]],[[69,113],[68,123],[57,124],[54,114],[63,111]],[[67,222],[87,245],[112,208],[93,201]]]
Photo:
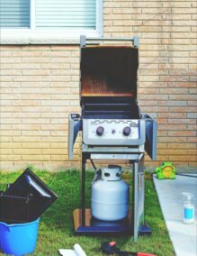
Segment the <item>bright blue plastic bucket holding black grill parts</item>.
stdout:
[[6,254],[23,255],[35,250],[40,218],[31,223],[0,222],[0,248]]

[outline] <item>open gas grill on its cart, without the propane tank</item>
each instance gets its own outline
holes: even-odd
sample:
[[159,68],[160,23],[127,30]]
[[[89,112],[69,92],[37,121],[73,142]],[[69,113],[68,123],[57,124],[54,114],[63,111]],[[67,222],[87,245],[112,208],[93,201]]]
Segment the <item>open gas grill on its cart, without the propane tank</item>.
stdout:
[[[130,45],[102,45],[95,41],[130,41]],[[89,42],[89,43],[87,43]],[[74,211],[76,233],[150,233],[144,223],[145,150],[157,157],[157,123],[142,115],[137,102],[139,37],[80,38],[80,114],[69,115],[68,157],[73,158],[77,133],[82,131],[81,207]],[[132,207],[124,220],[94,219],[85,207],[85,163],[127,160],[133,171]],[[95,166],[94,166],[95,169]],[[107,197],[107,195],[106,195]]]

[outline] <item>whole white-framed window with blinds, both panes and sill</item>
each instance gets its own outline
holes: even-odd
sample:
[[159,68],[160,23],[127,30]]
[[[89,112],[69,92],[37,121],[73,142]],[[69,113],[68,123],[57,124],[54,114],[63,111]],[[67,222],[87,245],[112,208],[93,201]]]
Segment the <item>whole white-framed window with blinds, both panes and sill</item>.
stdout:
[[100,36],[103,0],[0,0],[2,38]]

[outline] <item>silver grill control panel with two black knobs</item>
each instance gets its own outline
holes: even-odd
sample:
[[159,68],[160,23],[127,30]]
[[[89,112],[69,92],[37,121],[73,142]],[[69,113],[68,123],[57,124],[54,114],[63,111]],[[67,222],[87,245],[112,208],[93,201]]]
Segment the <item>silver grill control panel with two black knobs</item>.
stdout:
[[83,141],[90,145],[138,144],[141,125],[143,120],[84,119]]

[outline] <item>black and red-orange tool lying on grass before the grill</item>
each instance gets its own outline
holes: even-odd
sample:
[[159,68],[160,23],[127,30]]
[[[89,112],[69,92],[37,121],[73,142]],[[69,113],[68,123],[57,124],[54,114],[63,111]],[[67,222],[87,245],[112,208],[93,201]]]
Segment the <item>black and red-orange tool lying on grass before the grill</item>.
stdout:
[[101,249],[103,253],[121,255],[121,256],[157,256],[156,254],[134,251],[121,251],[116,248],[116,242],[102,242]]

